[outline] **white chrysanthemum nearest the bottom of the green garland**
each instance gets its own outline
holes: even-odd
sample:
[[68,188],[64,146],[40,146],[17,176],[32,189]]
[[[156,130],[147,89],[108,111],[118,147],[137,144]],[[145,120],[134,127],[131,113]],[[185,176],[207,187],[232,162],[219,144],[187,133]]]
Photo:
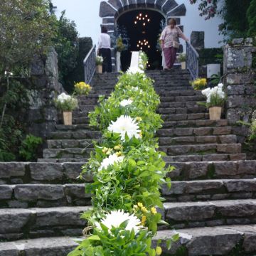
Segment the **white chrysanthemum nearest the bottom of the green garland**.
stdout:
[[[137,234],[139,232],[139,226],[141,220],[134,216],[134,214],[129,215],[129,213],[124,213],[124,210],[113,210],[111,213],[108,213],[105,218],[103,218],[100,223],[105,225],[109,230],[114,228],[119,228],[119,226],[126,220],[129,220],[125,230],[131,231],[134,229],[134,232]],[[101,229],[100,223],[95,223],[96,227]]]

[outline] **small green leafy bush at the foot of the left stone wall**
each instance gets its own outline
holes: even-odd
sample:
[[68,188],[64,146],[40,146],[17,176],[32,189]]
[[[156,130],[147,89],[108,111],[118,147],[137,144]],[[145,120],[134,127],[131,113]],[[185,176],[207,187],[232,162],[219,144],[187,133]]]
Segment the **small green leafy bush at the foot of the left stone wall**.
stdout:
[[38,148],[41,144],[43,144],[42,138],[28,134],[20,146],[19,154],[21,159],[25,161],[36,160]]

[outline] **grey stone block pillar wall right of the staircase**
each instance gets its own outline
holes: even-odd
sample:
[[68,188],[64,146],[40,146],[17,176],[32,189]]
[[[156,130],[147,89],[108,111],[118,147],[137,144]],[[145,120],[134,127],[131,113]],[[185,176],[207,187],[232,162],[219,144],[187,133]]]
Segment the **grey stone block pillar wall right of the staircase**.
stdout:
[[233,39],[224,47],[227,119],[229,124],[234,125],[234,133],[239,136],[240,142],[244,141],[248,129],[236,125],[238,121],[249,122],[252,110],[256,109],[256,70],[252,68],[255,53],[252,38]]

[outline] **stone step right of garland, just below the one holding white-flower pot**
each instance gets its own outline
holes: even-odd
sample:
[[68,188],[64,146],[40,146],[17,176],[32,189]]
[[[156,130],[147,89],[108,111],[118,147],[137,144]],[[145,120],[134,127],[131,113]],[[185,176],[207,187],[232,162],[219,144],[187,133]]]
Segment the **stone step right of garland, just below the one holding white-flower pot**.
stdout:
[[184,136],[210,136],[232,134],[232,127],[188,127],[174,129],[159,129],[160,137],[184,137]]

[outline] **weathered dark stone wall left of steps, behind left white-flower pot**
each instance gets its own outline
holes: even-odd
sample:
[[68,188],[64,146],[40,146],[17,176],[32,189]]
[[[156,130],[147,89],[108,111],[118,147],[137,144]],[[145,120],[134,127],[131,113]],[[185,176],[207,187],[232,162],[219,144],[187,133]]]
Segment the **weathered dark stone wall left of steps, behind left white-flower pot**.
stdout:
[[31,78],[26,87],[30,105],[26,119],[28,132],[46,138],[58,120],[53,100],[63,92],[63,87],[58,82],[58,55],[54,48],[50,48],[46,58],[34,58]]

